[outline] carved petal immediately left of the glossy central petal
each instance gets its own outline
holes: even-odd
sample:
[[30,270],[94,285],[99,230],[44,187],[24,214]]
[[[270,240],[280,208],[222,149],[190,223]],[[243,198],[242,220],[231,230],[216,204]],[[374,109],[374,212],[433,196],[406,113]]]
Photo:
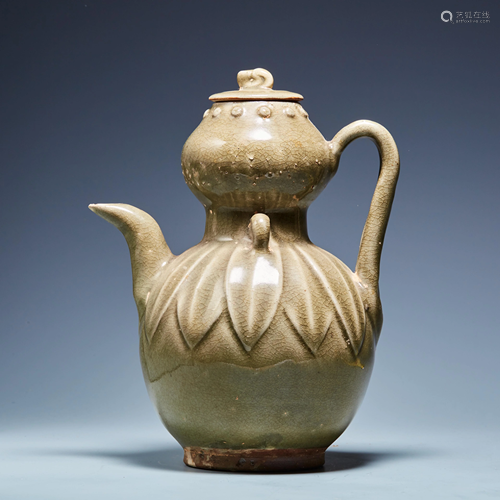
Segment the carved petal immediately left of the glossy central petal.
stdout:
[[224,309],[224,276],[234,245],[212,251],[185,278],[177,292],[177,317],[189,347],[194,348]]

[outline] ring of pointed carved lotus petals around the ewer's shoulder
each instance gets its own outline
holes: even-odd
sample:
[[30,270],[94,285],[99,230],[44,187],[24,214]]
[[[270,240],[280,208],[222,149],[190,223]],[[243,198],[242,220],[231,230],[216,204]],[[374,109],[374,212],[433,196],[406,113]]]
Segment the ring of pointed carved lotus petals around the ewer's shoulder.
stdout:
[[[285,315],[290,327],[283,327],[289,331],[282,335],[290,342],[295,342],[290,335],[297,335],[313,356],[333,336],[356,358],[366,319],[347,266],[311,243],[271,238],[259,245],[251,240],[200,244],[175,259],[164,271],[169,279],[152,291],[146,305],[148,341],[166,334],[163,323],[177,324],[193,350],[209,342],[211,329],[222,321],[251,355],[272,322]],[[342,298],[336,293],[340,288],[348,290]],[[174,323],[162,321],[169,315],[175,315]]]

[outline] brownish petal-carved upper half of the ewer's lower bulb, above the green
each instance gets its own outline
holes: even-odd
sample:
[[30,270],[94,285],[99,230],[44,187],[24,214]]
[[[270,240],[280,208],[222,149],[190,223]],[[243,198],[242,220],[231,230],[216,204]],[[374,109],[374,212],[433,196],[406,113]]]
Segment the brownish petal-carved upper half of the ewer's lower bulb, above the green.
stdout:
[[311,243],[271,237],[257,250],[245,240],[211,241],[162,273],[168,279],[151,290],[142,333],[152,379],[193,362],[262,367],[343,358],[361,366],[367,329],[373,336],[362,286]]

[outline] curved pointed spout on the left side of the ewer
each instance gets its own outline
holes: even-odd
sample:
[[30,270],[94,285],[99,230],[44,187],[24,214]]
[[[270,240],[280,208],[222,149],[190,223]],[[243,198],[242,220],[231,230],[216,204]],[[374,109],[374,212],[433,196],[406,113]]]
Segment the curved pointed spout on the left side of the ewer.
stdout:
[[99,203],[89,205],[89,208],[116,226],[127,240],[132,261],[134,299],[142,319],[154,277],[173,254],[157,222],[146,212],[122,203]]

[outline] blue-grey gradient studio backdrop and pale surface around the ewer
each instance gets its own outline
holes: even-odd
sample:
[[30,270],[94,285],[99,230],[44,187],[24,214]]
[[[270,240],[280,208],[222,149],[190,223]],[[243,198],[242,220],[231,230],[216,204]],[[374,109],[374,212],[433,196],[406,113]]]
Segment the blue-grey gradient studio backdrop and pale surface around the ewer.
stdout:
[[[443,23],[443,10],[487,10],[491,23]],[[360,485],[366,498],[496,497],[499,35],[493,1],[0,2],[0,440],[10,450],[0,498],[80,498],[71,485],[81,498],[136,498],[146,482],[158,485],[150,498],[305,498],[305,477],[308,494],[337,482],[338,498]],[[235,89],[237,71],[254,67],[269,69],[275,88],[303,94],[327,139],[361,118],[393,134],[401,176],[382,257],[385,322],[368,394],[339,441],[340,453],[354,446],[347,483],[334,466],[323,476],[240,476],[241,491],[238,476],[200,473],[183,496],[180,449],[142,380],[125,241],[86,207],[133,204],[156,218],[174,253],[196,244],[204,211],[180,152],[208,96]],[[375,146],[356,141],[309,210],[311,239],[351,268],[377,173]],[[440,445],[436,436],[448,437]],[[53,451],[53,469],[30,472],[49,462],[30,466],[29,445],[46,453],[65,443],[75,455],[82,442],[100,452],[73,458],[72,469]],[[394,457],[418,443],[428,453],[418,467],[371,460],[372,476],[363,453],[375,442],[392,443]],[[110,451],[117,443],[121,455]],[[450,443],[466,453],[462,468],[432,464]],[[176,465],[148,468],[170,449]],[[99,460],[105,471],[119,467],[118,455],[134,458],[97,483],[95,471],[85,475]],[[468,475],[478,460],[482,479]],[[429,479],[439,467],[447,482]],[[386,482],[371,483],[376,474]],[[400,489],[396,475],[407,480]],[[53,489],[59,480],[68,490]]]

